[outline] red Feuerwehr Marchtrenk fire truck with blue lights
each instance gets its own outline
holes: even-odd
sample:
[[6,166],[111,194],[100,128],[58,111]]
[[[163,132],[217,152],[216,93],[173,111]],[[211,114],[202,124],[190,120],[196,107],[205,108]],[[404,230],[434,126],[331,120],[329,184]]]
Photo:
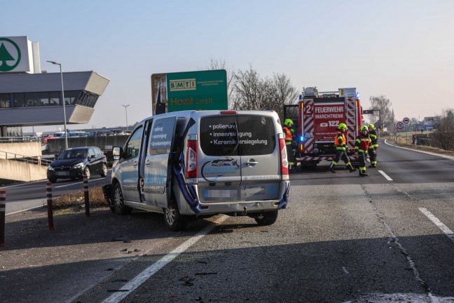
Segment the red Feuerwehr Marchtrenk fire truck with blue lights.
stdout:
[[284,119],[294,121],[298,142],[296,162],[301,166],[316,167],[320,161],[334,159],[334,137],[340,123],[347,125],[348,156],[354,165],[357,163],[353,152],[361,128],[362,108],[356,88],[329,92],[319,92],[316,87],[304,88],[298,105],[284,106]]

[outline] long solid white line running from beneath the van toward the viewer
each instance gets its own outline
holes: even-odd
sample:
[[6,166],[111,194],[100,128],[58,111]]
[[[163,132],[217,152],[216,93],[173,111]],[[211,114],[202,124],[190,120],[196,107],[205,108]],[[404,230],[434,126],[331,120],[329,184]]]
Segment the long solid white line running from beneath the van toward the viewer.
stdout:
[[121,299],[127,297],[133,290],[138,288],[142,283],[144,283],[148,278],[156,274],[160,269],[165,267],[167,263],[170,263],[179,254],[184,253],[185,250],[190,248],[194,245],[197,241],[199,241],[203,236],[206,236],[210,231],[216,227],[217,224],[221,224],[225,220],[227,220],[228,215],[222,215],[219,217],[218,220],[214,221],[212,224],[209,224],[205,229],[202,229],[198,234],[188,239],[188,241],[184,242],[183,244],[179,245],[177,248],[172,250],[170,253],[162,257],[156,263],[151,264],[151,266],[147,267],[142,273],[137,275],[133,278],[129,283],[123,285],[123,289],[128,290],[125,292],[115,292],[113,295],[105,299],[102,303],[117,303],[120,302]]

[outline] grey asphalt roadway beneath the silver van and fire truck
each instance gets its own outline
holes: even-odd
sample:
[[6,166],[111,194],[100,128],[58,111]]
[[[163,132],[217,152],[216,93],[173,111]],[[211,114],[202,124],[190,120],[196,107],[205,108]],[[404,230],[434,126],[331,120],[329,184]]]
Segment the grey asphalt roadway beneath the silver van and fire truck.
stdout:
[[[29,283],[57,271],[48,277],[59,278],[58,288],[52,281],[34,288],[39,302],[454,302],[453,170],[454,159],[382,143],[369,177],[323,165],[291,175],[289,207],[271,226],[217,216],[170,233],[160,215],[108,217],[133,244],[65,240],[54,250],[89,247],[98,255],[35,264]],[[122,245],[142,253],[128,260],[112,253],[116,267],[99,274],[106,262],[99,251]],[[16,267],[0,271],[0,291],[8,302],[36,302],[7,287],[28,270]],[[75,281],[81,273],[85,281]],[[59,290],[67,292],[56,301]]]

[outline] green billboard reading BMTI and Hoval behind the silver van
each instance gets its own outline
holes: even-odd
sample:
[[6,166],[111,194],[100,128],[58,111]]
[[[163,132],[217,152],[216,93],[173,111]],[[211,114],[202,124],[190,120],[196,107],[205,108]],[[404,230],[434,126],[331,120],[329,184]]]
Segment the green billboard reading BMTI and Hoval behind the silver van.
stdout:
[[151,75],[153,114],[228,109],[225,69]]

